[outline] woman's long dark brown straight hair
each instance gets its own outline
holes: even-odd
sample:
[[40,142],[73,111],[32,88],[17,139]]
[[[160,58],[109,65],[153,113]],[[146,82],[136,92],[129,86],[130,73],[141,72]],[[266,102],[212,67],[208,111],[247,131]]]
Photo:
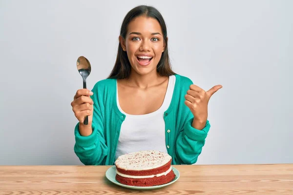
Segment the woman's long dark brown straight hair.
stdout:
[[[136,17],[145,15],[146,17],[154,18],[158,20],[158,22],[161,25],[162,31],[163,31],[163,37],[165,42],[165,50],[162,53],[162,57],[157,65],[157,72],[161,76],[171,76],[175,75],[175,73],[171,69],[169,55],[168,55],[168,47],[167,47],[167,27],[165,20],[163,19],[161,13],[152,6],[146,6],[146,5],[140,5],[133,9],[131,9],[125,16],[121,30],[120,35],[125,39],[126,33],[127,33],[127,26],[129,22]],[[112,72],[108,78],[129,78],[131,71],[131,65],[127,57],[127,53],[123,51],[121,47],[121,43],[119,42],[118,46],[118,52],[116,57],[115,65],[112,69]]]

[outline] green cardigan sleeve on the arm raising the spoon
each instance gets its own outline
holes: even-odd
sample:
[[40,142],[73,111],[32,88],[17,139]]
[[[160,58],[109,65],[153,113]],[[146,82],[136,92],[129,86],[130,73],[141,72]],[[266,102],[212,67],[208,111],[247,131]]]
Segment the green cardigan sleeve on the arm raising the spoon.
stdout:
[[94,102],[92,134],[81,136],[79,133],[79,123],[75,126],[74,152],[84,165],[103,165],[107,156],[108,148],[105,142],[104,122],[98,101],[98,90],[94,86],[91,96]]

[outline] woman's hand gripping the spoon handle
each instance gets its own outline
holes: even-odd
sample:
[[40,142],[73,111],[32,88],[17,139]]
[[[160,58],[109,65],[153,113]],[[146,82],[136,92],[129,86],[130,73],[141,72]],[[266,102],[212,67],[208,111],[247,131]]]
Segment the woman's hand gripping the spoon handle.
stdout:
[[71,102],[72,110],[80,124],[84,124],[84,118],[88,116],[88,126],[93,121],[94,102],[90,98],[93,93],[88,89],[77,90],[74,100]]

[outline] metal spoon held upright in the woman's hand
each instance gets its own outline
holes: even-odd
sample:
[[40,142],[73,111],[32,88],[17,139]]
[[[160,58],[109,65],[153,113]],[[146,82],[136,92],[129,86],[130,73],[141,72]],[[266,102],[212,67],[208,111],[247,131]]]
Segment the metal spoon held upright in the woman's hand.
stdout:
[[[91,71],[90,63],[86,58],[84,58],[83,56],[80,56],[77,59],[76,65],[77,65],[78,72],[81,74],[83,78],[84,89],[86,89],[86,78],[89,76]],[[88,117],[86,116],[84,117],[84,125],[87,125],[87,124],[88,124]]]

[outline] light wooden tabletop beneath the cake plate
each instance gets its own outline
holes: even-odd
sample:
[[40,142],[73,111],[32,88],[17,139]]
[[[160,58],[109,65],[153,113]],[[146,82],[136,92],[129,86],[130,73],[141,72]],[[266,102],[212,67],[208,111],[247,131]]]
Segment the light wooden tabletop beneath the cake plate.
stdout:
[[174,167],[175,183],[138,191],[108,181],[110,166],[0,166],[0,195],[293,195],[293,164]]

